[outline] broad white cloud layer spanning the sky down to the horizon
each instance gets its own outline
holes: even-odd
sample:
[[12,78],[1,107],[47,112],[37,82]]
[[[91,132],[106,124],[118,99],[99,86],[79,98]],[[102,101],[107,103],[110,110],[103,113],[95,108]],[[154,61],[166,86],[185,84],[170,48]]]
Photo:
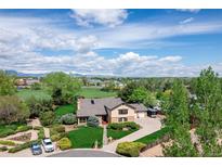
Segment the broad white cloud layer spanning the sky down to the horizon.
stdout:
[[[181,55],[141,55],[134,52],[103,56],[94,49],[147,47],[158,40],[221,31],[217,22],[185,25],[126,24],[89,30],[58,29],[35,18],[0,17],[0,67],[24,73],[55,70],[119,76],[196,76],[208,65],[187,66]],[[16,28],[15,28],[16,27]],[[49,56],[41,50],[57,52]],[[66,55],[62,50],[70,50]],[[211,64],[222,75],[221,64]]]

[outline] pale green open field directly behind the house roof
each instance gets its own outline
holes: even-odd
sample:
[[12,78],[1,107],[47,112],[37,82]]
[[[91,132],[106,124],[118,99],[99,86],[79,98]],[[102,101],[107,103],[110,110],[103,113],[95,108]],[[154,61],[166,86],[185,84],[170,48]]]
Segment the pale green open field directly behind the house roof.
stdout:
[[116,97],[117,93],[102,91],[100,88],[82,88],[78,95],[82,95],[84,98],[108,98]]

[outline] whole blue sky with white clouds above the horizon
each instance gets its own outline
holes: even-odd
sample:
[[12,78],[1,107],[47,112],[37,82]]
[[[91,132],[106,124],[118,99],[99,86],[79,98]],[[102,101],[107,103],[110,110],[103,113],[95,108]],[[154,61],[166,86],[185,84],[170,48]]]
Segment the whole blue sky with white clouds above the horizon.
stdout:
[[222,10],[0,10],[0,23],[3,69],[222,75]]

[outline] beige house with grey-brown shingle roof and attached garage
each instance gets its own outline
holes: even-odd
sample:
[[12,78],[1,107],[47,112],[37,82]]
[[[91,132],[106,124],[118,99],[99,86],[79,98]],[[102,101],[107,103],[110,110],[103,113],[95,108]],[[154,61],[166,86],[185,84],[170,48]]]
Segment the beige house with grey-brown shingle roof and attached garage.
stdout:
[[90,116],[100,123],[134,121],[147,116],[147,108],[140,103],[129,104],[120,98],[79,99],[77,103],[78,124],[86,124]]

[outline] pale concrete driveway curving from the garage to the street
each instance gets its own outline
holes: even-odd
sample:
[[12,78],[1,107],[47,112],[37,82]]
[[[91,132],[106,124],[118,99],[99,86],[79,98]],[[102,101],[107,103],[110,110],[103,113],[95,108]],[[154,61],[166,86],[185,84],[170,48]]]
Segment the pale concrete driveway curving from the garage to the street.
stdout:
[[129,136],[126,136],[119,140],[116,140],[107,145],[104,145],[102,150],[115,153],[118,143],[125,142],[125,141],[135,141],[135,140],[138,140],[142,137],[145,137],[149,133],[153,133],[161,128],[160,118],[151,118],[151,117],[136,118],[135,123],[142,127],[140,130],[138,130]]

